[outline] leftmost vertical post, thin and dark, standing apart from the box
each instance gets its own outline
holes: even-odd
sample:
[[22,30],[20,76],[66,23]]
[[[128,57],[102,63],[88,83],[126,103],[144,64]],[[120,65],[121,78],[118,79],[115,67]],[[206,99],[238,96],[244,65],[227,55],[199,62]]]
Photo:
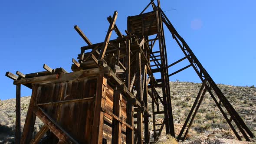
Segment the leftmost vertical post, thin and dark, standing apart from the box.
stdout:
[[16,85],[15,144],[20,144],[20,85]]

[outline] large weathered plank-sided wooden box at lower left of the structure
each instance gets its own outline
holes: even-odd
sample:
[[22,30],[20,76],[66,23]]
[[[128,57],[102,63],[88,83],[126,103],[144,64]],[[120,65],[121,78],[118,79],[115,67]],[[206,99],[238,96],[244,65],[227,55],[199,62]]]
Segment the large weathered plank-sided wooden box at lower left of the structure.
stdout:
[[[133,121],[126,122],[126,99],[133,95],[109,67],[20,79],[14,84],[33,86],[21,144],[43,137],[38,133],[32,139],[36,117],[45,124],[41,133],[48,131],[43,142],[51,144],[111,144],[115,127],[125,144],[127,128],[133,129]],[[132,110],[128,113],[133,117]]]

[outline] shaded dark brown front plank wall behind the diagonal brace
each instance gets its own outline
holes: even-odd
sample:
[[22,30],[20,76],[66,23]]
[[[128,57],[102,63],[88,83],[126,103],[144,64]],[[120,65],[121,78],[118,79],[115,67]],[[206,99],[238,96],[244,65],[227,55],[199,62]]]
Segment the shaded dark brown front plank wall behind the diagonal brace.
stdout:
[[[96,79],[82,79],[40,85],[36,90],[38,94],[37,103],[94,97],[96,84]],[[76,141],[81,144],[89,143],[91,137],[90,125],[93,121],[93,99],[57,105],[43,105],[42,108]]]

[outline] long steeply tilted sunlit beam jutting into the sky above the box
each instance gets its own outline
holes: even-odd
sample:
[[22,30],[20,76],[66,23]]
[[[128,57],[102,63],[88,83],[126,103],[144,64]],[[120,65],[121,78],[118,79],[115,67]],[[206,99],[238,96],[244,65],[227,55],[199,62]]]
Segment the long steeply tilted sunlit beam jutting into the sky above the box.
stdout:
[[115,26],[115,21],[116,21],[116,18],[117,18],[117,14],[118,12],[115,11],[114,14],[113,14],[113,18],[111,20],[111,23],[108,27],[108,32],[107,32],[107,35],[105,37],[105,40],[104,40],[104,43],[103,43],[103,46],[102,46],[102,50],[101,50],[101,53],[100,53],[100,56],[99,56],[99,59],[103,59],[104,56],[105,56],[105,52],[107,50],[107,47],[108,47],[108,42],[109,42],[109,39],[110,39],[110,36],[112,34],[112,30]]

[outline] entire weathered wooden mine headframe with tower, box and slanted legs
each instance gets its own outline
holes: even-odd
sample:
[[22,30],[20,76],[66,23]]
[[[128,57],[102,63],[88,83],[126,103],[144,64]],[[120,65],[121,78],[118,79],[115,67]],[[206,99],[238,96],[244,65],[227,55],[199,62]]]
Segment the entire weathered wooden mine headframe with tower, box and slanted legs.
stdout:
[[[152,6],[153,10],[144,13],[149,6]],[[128,17],[126,35],[123,35],[115,24],[117,15],[118,12],[115,11],[113,16],[108,17],[110,25],[102,43],[92,44],[78,26],[74,27],[88,46],[81,47],[78,61],[72,59],[73,72],[68,73],[62,68],[51,69],[43,65],[46,69],[43,72],[26,75],[19,71],[16,75],[6,73],[16,85],[17,144],[35,144],[39,141],[52,144],[142,144],[156,141],[164,126],[166,133],[175,137],[169,77],[190,66],[197,72],[203,85],[177,140],[186,139],[207,91],[239,140],[241,136],[237,129],[246,141],[250,141],[249,137],[254,137],[187,43],[174,29],[161,10],[159,0],[157,5],[151,0],[139,15]],[[167,64],[164,24],[185,55],[171,65]],[[118,38],[110,40],[113,30]],[[152,36],[154,38],[150,39]],[[190,65],[168,73],[168,68],[184,59],[188,59]],[[159,73],[161,79],[155,79],[155,73]],[[20,85],[32,89],[21,137]],[[155,88],[161,88],[162,95],[159,95]],[[149,98],[152,103],[148,102]],[[152,106],[152,111],[148,110],[148,105]],[[164,106],[164,111],[159,110],[159,105]],[[223,109],[226,109],[229,116]],[[155,123],[155,115],[159,114],[164,114],[162,124]],[[43,121],[44,126],[32,137],[36,117]],[[151,140],[149,117],[153,119],[154,134]]]

